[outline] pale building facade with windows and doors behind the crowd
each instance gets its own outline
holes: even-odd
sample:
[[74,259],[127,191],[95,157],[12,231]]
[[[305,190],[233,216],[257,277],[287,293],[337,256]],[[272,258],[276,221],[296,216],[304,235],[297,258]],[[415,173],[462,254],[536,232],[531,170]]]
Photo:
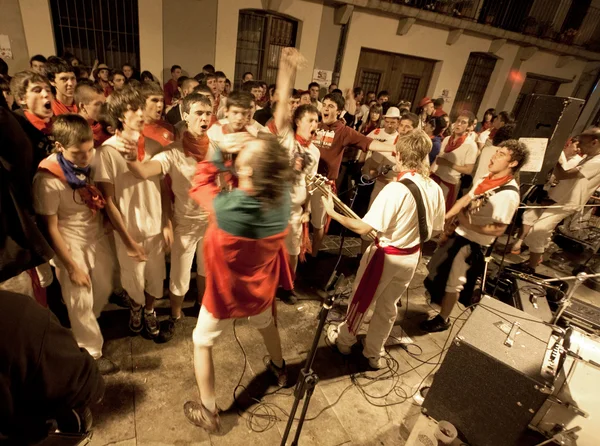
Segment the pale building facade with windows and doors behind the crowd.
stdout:
[[[279,51],[295,46],[340,88],[423,96],[445,109],[519,111],[529,93],[587,100],[578,127],[598,119],[600,0],[0,0],[11,72],[34,54],[132,63],[161,80],[207,63],[239,82],[274,82]],[[576,129],[578,130],[578,129]]]

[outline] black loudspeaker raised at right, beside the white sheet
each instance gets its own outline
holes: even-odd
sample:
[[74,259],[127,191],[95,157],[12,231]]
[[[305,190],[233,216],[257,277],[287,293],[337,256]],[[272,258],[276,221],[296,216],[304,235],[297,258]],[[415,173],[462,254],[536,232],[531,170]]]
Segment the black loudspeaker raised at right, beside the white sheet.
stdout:
[[548,147],[540,172],[521,172],[521,184],[544,184],[554,169],[585,101],[542,94],[526,96],[516,117],[514,138],[547,138]]

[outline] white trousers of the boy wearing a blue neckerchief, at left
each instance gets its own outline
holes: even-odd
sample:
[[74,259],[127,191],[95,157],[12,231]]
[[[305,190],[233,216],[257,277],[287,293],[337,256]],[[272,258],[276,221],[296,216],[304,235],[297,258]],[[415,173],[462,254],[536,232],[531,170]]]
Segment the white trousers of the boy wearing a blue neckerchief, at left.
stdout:
[[[95,268],[96,244],[70,245],[70,250],[73,261],[77,266],[91,276]],[[102,308],[106,305],[106,300],[95,301],[93,282],[91,288],[74,285],[64,265],[57,258],[53,262],[57,267],[58,282],[62,290],[63,300],[67,306],[75,341],[77,341],[80,348],[85,348],[94,359],[98,359],[102,356],[104,339],[96,320],[96,313],[100,314]],[[108,296],[106,298],[108,300]]]

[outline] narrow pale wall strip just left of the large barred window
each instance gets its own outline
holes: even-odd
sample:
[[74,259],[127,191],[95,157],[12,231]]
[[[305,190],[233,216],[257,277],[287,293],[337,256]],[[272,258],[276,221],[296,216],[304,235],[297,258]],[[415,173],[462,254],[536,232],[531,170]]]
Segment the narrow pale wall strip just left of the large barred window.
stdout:
[[[31,56],[56,54],[50,3],[48,0],[19,0],[27,50]],[[0,14],[4,15],[0,8]]]

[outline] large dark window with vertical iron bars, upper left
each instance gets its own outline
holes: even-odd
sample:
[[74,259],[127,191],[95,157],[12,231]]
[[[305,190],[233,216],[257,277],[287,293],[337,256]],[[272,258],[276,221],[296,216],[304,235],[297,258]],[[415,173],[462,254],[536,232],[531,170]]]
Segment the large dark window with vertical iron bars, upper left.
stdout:
[[137,0],[50,0],[56,51],[85,65],[140,66]]

